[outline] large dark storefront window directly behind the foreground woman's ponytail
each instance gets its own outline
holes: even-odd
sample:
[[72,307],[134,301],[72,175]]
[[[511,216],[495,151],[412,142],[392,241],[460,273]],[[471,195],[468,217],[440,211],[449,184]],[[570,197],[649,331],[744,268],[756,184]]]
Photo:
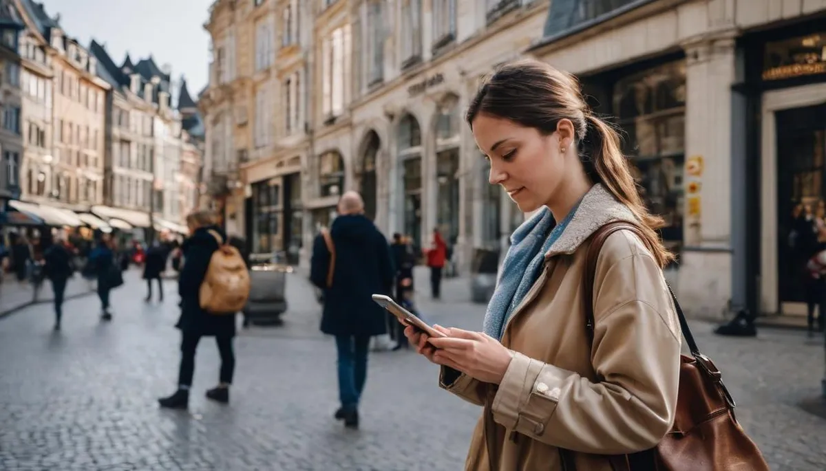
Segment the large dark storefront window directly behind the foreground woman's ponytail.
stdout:
[[616,82],[614,112],[627,134],[623,151],[648,209],[665,219],[662,238],[679,251],[683,236],[686,64],[676,61]]

